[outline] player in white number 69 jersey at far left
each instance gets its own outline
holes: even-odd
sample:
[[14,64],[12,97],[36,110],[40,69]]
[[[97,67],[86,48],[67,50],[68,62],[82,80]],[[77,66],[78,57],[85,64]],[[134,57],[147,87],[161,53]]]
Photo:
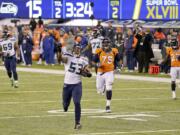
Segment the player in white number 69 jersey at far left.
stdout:
[[7,30],[0,39],[0,54],[4,56],[4,65],[10,78],[11,86],[18,88],[18,74],[16,71],[16,52],[19,58],[19,47],[16,39]]

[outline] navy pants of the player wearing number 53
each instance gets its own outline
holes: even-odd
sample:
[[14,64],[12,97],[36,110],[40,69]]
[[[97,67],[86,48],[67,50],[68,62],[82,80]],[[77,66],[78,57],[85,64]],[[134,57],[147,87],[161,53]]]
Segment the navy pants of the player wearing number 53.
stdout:
[[64,111],[68,110],[71,98],[73,98],[75,106],[75,123],[79,124],[81,119],[81,97],[82,84],[64,84],[63,87],[63,107]]

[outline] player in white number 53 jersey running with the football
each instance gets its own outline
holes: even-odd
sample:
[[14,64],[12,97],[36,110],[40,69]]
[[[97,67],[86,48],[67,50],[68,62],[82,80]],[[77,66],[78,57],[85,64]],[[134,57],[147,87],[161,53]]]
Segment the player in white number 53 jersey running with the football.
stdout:
[[80,45],[76,44],[73,48],[73,54],[65,53],[62,56],[62,62],[65,65],[65,77],[63,86],[63,109],[68,111],[71,98],[73,98],[75,106],[75,129],[80,129],[81,118],[81,97],[82,82],[81,76],[91,77],[88,68],[88,60],[82,56]]

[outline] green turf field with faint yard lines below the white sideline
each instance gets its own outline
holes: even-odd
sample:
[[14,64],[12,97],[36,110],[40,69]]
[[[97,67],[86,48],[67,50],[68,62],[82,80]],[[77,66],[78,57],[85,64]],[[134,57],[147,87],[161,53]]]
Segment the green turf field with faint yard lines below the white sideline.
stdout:
[[19,72],[14,89],[0,70],[0,135],[180,135],[180,98],[171,99],[170,84],[116,79],[112,113],[106,114],[95,78],[83,78],[78,131],[72,102],[62,112],[62,85],[60,75]]

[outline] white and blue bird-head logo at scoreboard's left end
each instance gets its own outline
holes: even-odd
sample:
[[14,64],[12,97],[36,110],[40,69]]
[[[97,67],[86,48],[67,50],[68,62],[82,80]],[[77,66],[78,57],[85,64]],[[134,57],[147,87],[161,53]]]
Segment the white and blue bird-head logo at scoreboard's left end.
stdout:
[[16,16],[18,12],[18,7],[11,2],[2,2],[0,7],[1,14],[14,14]]

